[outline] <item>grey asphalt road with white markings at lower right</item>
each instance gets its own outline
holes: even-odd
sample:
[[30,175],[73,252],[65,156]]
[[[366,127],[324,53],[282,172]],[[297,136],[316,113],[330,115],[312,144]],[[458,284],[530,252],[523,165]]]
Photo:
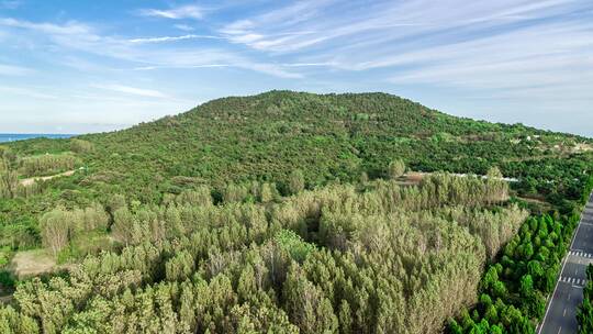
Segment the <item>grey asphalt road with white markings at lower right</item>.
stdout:
[[577,333],[577,308],[583,301],[586,266],[593,263],[593,197],[589,198],[581,222],[572,240],[570,252],[563,260],[540,334]]

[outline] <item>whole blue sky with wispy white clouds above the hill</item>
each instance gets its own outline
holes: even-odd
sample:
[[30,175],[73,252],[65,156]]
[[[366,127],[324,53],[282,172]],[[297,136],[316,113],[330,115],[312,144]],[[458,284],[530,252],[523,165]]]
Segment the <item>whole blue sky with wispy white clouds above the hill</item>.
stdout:
[[109,131],[270,89],[593,136],[593,1],[0,0],[0,132]]

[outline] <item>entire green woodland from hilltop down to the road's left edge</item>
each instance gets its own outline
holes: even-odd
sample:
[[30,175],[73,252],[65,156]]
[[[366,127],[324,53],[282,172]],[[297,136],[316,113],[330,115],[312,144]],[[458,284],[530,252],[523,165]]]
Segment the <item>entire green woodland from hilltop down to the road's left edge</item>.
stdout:
[[590,138],[385,93],[2,144],[0,332],[534,333],[592,169]]

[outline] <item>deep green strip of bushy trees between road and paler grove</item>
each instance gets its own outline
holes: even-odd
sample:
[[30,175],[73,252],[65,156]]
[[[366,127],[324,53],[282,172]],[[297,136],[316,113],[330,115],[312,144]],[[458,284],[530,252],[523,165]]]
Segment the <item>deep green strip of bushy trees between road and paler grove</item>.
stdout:
[[492,333],[495,326],[505,333],[533,333],[578,223],[578,214],[529,218],[501,252],[500,260],[486,268],[473,315],[466,311],[459,321],[450,320],[448,332]]

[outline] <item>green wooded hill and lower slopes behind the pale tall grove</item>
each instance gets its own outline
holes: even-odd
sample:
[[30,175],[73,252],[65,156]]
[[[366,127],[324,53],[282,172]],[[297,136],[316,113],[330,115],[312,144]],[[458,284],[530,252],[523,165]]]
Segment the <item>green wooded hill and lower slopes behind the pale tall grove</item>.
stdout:
[[[383,93],[271,91],[219,99],[124,131],[2,146],[0,244],[38,245],[38,220],[58,205],[109,208],[122,196],[159,205],[170,194],[203,186],[215,203],[258,201],[261,194],[272,201],[337,180],[388,176],[391,162],[410,170],[477,175],[497,166],[518,179],[512,188],[519,196],[542,197],[569,214],[593,162],[591,153],[571,152],[578,144],[592,142],[521,124],[458,119]],[[19,186],[19,178],[31,172],[65,171],[72,158],[74,167],[86,169]],[[23,164],[31,165],[29,172]],[[254,191],[254,181],[271,189]]]

